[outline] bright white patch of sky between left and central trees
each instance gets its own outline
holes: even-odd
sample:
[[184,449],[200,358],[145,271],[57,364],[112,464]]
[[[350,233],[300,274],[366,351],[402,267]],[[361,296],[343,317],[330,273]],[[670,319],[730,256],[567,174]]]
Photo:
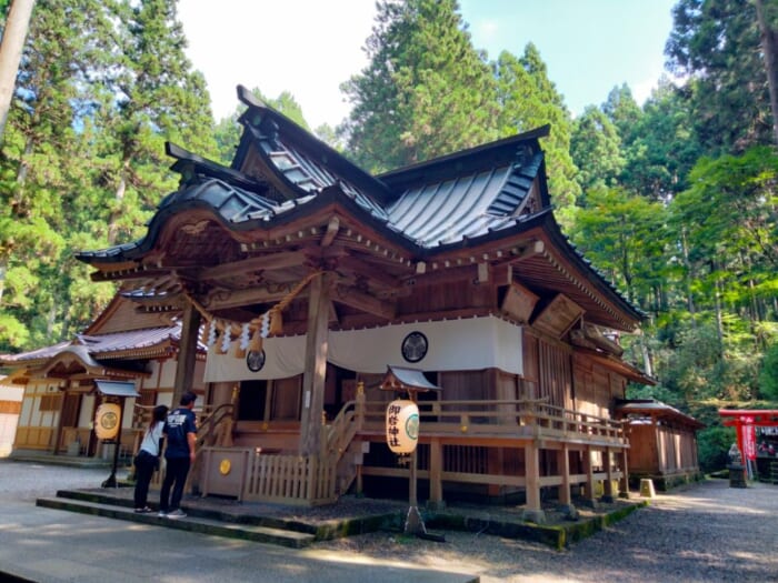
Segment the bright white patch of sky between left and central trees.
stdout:
[[238,107],[236,87],[289,91],[308,123],[336,125],[349,111],[339,86],[367,64],[375,17],[366,0],[180,0],[187,54],[206,76],[213,115]]

